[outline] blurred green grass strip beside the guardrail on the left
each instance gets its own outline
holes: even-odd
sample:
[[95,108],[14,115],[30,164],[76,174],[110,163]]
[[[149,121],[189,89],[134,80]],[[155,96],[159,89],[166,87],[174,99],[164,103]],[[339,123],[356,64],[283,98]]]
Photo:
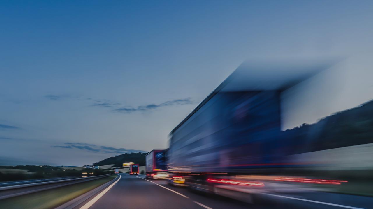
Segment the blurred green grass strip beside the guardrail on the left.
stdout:
[[86,181],[59,187],[56,189],[25,194],[0,200],[0,208],[6,209],[52,209],[65,202],[68,202],[102,184],[113,180],[116,175],[104,177],[102,179]]

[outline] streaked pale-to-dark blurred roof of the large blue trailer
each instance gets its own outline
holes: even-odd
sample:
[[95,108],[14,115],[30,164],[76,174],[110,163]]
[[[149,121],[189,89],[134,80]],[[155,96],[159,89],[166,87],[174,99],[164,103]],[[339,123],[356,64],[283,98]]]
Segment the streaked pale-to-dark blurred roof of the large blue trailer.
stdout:
[[296,56],[247,60],[195,107],[195,109],[170,132],[170,135],[219,92],[283,91],[332,67],[342,59],[344,59],[344,57],[341,56],[318,56],[311,58]]

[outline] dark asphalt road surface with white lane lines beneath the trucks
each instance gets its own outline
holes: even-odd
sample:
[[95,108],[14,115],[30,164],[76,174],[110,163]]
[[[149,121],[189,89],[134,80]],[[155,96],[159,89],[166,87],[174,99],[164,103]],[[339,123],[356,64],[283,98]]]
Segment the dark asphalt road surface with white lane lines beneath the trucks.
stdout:
[[[269,209],[269,208],[373,208],[373,198],[346,194],[309,192],[278,196],[261,194],[255,204],[217,195],[193,192],[167,185],[166,180],[147,180],[145,176],[120,174],[122,178],[89,209]],[[77,208],[84,208],[87,202]],[[85,205],[87,208],[87,205]]]

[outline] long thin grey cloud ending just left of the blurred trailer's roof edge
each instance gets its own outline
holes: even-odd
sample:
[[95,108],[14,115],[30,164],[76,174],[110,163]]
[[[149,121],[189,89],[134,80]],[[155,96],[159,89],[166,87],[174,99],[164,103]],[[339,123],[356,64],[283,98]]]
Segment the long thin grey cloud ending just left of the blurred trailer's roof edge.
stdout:
[[133,113],[133,112],[138,112],[138,111],[154,110],[154,109],[157,109],[159,107],[175,106],[175,105],[189,105],[189,104],[192,104],[192,103],[194,103],[194,102],[190,98],[185,98],[185,99],[176,99],[176,100],[163,102],[163,103],[160,103],[158,105],[149,104],[149,105],[138,106],[136,108],[123,107],[123,108],[115,109],[113,111],[120,112],[120,113]]

